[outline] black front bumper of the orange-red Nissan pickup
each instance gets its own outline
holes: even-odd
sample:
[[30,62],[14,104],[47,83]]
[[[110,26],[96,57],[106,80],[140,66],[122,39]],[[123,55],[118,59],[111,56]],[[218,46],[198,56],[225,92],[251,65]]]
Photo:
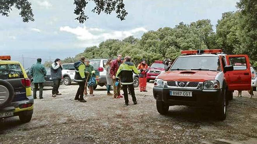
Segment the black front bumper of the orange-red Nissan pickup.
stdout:
[[[192,91],[192,97],[170,96],[170,90]],[[218,90],[195,90],[195,89],[171,89],[154,87],[153,95],[157,101],[166,104],[185,106],[221,106],[223,104],[222,89]]]

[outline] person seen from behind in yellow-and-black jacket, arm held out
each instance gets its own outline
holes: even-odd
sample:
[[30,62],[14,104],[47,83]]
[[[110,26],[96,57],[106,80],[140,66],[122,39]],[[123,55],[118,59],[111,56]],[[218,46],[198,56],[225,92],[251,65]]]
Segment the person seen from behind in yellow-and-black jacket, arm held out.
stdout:
[[131,57],[126,56],[125,62],[120,65],[116,73],[116,80],[120,79],[119,83],[122,84],[122,90],[124,92],[124,100],[126,106],[129,105],[128,88],[131,91],[133,103],[137,104],[135,89],[133,86],[133,72],[135,74],[139,74],[140,70],[138,70],[136,66],[131,62]]

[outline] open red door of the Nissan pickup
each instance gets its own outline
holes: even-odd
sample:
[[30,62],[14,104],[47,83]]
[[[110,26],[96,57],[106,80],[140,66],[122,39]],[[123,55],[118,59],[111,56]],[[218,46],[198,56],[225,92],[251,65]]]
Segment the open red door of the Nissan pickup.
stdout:
[[227,55],[228,65],[234,70],[225,72],[225,79],[228,90],[250,90],[251,89],[251,68],[247,55]]

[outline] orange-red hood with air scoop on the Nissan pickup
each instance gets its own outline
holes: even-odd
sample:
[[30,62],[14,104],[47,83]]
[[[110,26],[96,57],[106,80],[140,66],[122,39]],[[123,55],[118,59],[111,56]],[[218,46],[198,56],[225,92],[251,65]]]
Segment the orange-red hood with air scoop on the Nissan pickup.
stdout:
[[205,70],[172,70],[160,74],[158,79],[164,81],[199,81],[204,82],[206,80],[215,79],[217,71],[205,71]]

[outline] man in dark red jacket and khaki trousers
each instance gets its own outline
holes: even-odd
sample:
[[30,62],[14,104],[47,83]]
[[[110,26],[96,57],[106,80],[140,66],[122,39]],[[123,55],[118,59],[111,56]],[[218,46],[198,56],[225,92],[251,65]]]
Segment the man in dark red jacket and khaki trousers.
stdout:
[[[112,62],[111,69],[110,69],[110,74],[111,74],[111,77],[112,77],[113,97],[114,98],[122,98],[123,97],[120,94],[121,84],[119,83],[118,86],[115,85],[116,73],[117,73],[117,71],[119,69],[119,66],[123,63],[123,61],[121,60],[121,57],[122,57],[121,54],[119,54],[117,56],[117,59]],[[119,78],[119,81],[120,81],[120,78]]]

